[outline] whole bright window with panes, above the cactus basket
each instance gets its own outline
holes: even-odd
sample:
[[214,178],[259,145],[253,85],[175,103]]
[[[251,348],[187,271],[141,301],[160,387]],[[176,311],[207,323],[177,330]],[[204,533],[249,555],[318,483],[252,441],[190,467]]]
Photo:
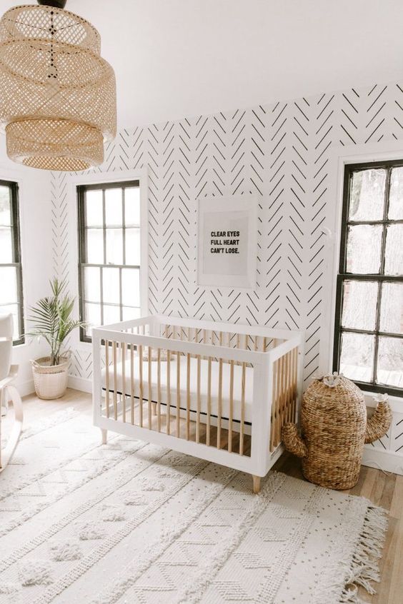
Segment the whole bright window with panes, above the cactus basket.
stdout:
[[403,161],[346,166],[334,369],[403,390]]

